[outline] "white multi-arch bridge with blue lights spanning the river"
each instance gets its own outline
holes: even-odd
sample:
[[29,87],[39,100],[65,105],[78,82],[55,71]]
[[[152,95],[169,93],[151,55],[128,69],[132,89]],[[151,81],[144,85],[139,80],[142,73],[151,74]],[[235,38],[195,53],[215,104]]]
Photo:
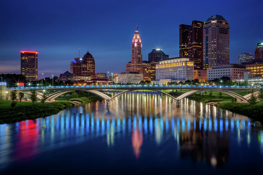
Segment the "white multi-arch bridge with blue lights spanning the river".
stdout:
[[[223,92],[225,94],[228,94],[232,97],[236,97],[240,101],[245,101],[247,102],[248,99],[250,98],[251,94],[241,96],[235,92],[235,90],[254,90],[255,93],[257,93],[260,88],[262,87],[245,87],[245,86],[212,86],[212,85],[91,85],[91,86],[54,86],[54,87],[26,87],[26,88],[5,88],[4,90],[3,87],[1,86],[1,92],[2,94],[3,91],[6,91],[7,93],[11,90],[17,90],[18,92],[24,92],[26,94],[30,94],[31,89],[36,89],[37,90],[37,98],[41,99],[43,95],[43,90],[47,91],[56,91],[55,93],[49,95],[47,97],[48,101],[53,101],[55,98],[59,97],[60,95],[63,95],[67,92],[72,92],[72,91],[84,91],[84,92],[89,92],[95,95],[98,95],[99,97],[102,97],[105,99],[105,104],[110,105],[115,103],[115,98],[130,91],[136,91],[136,90],[152,90],[156,92],[160,92],[162,94],[165,94],[173,99],[173,103],[176,105],[180,105],[180,101],[183,98],[186,98],[190,95],[193,95],[195,93],[199,92],[204,92],[204,91],[219,91]],[[107,90],[107,89],[112,89],[112,90],[124,90],[123,92],[118,93],[117,95],[113,97],[109,97],[108,95],[99,92],[98,90]],[[189,90],[189,92],[186,92],[179,97],[174,97],[162,90]],[[3,95],[2,95],[3,97]],[[4,99],[4,98],[2,98]]]

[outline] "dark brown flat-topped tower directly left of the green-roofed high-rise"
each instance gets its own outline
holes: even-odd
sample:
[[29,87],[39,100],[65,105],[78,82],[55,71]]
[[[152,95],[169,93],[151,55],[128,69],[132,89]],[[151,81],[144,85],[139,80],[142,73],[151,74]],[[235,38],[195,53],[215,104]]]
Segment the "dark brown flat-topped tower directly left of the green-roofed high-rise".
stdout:
[[194,62],[194,69],[203,69],[203,24],[202,21],[192,21],[188,29],[187,55]]

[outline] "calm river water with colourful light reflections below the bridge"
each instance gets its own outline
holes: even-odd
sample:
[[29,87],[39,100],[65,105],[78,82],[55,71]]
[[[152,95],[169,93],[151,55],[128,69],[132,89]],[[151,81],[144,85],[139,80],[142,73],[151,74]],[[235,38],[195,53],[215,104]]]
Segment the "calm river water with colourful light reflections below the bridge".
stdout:
[[0,125],[0,174],[262,173],[263,129],[243,115],[160,94],[116,101]]

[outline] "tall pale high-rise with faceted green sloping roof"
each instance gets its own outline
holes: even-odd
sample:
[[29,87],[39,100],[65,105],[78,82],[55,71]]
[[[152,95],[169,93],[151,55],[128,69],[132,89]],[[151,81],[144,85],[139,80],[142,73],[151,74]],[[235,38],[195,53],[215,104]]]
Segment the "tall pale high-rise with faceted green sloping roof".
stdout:
[[203,69],[229,64],[229,23],[221,15],[203,25]]

